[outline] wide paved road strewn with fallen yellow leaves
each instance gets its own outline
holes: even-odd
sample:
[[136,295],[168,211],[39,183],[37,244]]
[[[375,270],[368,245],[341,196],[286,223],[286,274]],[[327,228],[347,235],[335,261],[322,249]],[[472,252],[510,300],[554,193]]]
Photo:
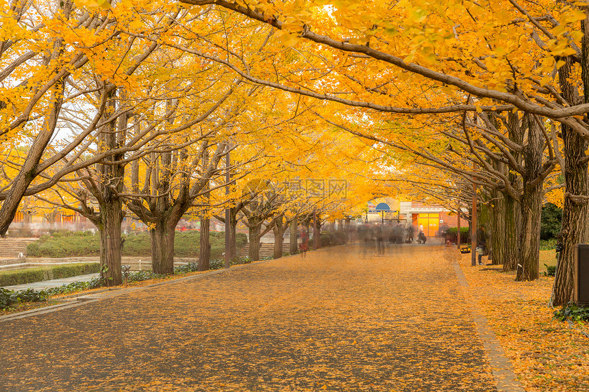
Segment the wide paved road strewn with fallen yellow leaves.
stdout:
[[0,324],[0,391],[495,391],[441,247],[311,252]]

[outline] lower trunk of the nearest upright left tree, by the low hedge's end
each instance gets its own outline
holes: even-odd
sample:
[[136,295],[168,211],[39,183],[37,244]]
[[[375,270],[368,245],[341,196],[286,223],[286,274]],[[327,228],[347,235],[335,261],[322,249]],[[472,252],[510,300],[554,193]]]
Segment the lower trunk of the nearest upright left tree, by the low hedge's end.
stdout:
[[[109,192],[107,190],[106,192]],[[114,195],[111,195],[114,196]],[[100,205],[100,276],[106,286],[123,283],[121,274],[122,203],[119,198],[108,198]]]

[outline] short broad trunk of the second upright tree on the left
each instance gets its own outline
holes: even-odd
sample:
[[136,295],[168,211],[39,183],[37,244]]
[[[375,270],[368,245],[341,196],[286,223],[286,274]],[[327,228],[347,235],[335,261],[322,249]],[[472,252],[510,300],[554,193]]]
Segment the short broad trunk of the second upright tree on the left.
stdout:
[[174,273],[174,236],[173,222],[161,222],[151,228],[151,270],[155,274]]

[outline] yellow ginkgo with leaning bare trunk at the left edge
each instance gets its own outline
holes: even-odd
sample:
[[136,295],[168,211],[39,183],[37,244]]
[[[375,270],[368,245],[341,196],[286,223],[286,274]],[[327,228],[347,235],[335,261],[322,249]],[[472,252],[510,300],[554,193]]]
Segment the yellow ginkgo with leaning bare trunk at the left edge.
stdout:
[[[114,14],[100,14],[78,8],[71,0],[1,3],[5,23],[0,38],[0,134],[3,146],[27,143],[28,148],[18,173],[0,192],[1,234],[8,229],[23,196],[46,190],[64,175],[75,172],[79,167],[71,164],[63,165],[61,170],[54,170],[54,166],[67,155],[75,154],[77,146],[103,127],[105,120],[116,120],[115,114],[113,118],[103,116],[109,94],[117,86],[128,88],[138,65],[157,47],[151,40],[125,40],[117,23],[142,24],[142,18],[151,18],[154,9],[162,10],[155,4],[154,8],[135,12],[126,2]],[[154,23],[151,31],[160,27],[160,32],[164,31],[170,20],[160,19],[162,25]],[[97,97],[97,110],[88,127],[67,144],[51,144],[53,155],[48,155],[47,148],[57,135],[64,108],[75,105],[79,96],[96,91],[77,88],[78,78],[89,71],[101,81],[113,75],[116,83],[108,83],[108,88]],[[32,181],[49,168],[51,177],[45,176],[44,181],[32,186]]]

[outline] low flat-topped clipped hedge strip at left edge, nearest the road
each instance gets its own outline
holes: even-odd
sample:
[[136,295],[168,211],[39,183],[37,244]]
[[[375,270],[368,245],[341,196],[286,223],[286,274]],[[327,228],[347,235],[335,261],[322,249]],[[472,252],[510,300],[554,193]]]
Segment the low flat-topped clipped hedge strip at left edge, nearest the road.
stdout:
[[51,267],[25,268],[0,272],[0,287],[25,285],[42,280],[69,278],[71,276],[94,274],[100,271],[100,263],[75,263],[52,265]]

